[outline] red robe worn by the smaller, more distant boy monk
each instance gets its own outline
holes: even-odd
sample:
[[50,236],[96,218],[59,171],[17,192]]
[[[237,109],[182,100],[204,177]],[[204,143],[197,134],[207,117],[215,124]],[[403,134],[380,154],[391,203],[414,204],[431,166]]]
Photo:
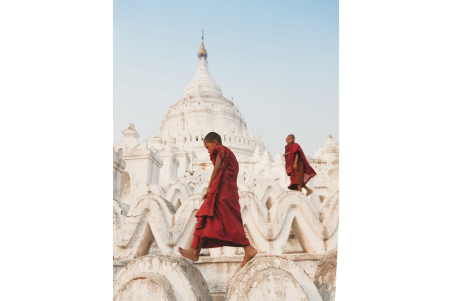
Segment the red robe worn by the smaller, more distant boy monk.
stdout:
[[[285,153],[289,153],[285,156],[286,159],[286,172],[290,176],[290,190],[298,190],[297,185],[303,187],[309,179],[316,175],[316,172],[311,167],[304,155],[303,150],[298,143],[292,143],[286,145]],[[297,169],[294,169],[295,155],[298,153],[299,158],[297,162]]]

